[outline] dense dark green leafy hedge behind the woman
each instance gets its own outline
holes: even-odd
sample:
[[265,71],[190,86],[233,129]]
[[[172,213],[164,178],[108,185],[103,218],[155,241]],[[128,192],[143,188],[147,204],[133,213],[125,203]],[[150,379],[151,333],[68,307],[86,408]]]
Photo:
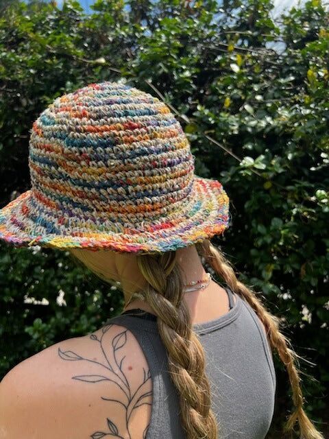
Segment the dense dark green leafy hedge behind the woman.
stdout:
[[[273,23],[269,0],[97,0],[91,8],[0,3],[1,206],[29,189],[29,130],[59,95],[125,78],[164,99],[191,141],[196,174],[219,179],[230,196],[232,228],[215,242],[282,316],[306,359],[308,414],[328,431],[328,10],[312,0]],[[0,289],[2,376],[123,306],[115,287],[66,252],[38,247],[0,245]],[[276,363],[269,438],[282,437],[291,409]]]

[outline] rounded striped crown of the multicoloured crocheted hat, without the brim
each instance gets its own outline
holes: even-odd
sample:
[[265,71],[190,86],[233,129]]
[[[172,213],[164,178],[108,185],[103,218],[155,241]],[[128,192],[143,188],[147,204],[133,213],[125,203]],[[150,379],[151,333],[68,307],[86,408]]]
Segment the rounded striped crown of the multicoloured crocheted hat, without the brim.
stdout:
[[175,213],[191,193],[194,156],[160,99],[119,82],[56,98],[29,141],[34,198],[65,215],[121,224]]

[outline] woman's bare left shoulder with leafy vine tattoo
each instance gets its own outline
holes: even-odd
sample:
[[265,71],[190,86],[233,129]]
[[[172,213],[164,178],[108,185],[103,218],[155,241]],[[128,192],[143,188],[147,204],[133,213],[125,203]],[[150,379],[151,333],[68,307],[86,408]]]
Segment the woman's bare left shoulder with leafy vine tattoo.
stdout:
[[25,359],[0,383],[0,439],[145,439],[152,383],[134,335],[107,324]]

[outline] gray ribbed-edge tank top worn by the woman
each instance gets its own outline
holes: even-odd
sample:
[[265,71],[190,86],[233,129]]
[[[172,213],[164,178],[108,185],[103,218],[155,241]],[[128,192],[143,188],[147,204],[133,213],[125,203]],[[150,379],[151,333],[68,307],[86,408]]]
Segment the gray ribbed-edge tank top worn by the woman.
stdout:
[[[271,349],[255,311],[225,287],[230,311],[193,330],[206,354],[206,374],[219,439],[264,439],[273,416],[276,373]],[[147,439],[185,439],[180,403],[171,382],[167,351],[156,316],[141,309],[125,311],[107,323],[120,324],[136,337],[149,364],[153,394]]]

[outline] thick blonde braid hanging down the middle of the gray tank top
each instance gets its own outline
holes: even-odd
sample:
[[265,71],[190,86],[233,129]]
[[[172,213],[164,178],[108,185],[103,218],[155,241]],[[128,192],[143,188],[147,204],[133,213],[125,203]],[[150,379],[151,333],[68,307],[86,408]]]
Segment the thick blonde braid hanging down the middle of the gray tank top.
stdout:
[[148,283],[143,290],[145,301],[158,316],[158,331],[167,348],[169,372],[180,397],[186,439],[217,439],[204,348],[193,332],[191,316],[182,300],[184,285],[175,252],[137,255],[137,262]]

